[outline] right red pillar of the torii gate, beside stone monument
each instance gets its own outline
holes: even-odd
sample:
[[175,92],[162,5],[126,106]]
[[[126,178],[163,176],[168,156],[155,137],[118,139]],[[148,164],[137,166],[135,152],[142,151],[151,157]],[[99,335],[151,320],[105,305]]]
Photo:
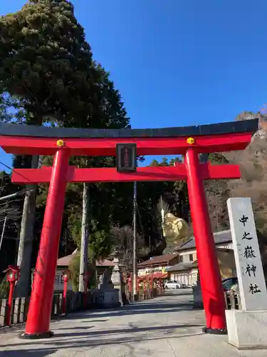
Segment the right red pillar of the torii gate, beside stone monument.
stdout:
[[[226,333],[225,302],[214,237],[206,203],[204,183],[199,172],[199,155],[188,149],[185,155],[190,211],[197,247],[197,262],[203,305],[205,332]],[[213,331],[212,331],[213,330]]]

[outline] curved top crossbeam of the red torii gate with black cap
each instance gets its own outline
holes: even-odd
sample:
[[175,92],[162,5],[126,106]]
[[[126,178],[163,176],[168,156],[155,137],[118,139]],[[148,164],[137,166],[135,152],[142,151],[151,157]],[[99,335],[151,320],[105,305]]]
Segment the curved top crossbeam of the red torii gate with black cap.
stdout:
[[116,144],[137,144],[138,155],[184,154],[195,139],[200,153],[243,150],[258,130],[258,119],[163,129],[75,129],[0,124],[0,146],[10,154],[53,155],[63,139],[75,156],[115,156]]

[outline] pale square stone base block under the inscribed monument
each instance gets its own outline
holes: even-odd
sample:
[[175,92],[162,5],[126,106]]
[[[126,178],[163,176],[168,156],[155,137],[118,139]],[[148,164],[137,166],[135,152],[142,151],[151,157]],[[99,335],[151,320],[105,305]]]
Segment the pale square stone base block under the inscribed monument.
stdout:
[[228,341],[238,349],[267,349],[267,311],[226,310]]

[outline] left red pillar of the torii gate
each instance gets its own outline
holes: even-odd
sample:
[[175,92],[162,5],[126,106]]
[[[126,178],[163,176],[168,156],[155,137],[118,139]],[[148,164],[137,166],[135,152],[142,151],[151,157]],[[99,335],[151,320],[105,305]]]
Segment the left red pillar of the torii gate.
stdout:
[[53,336],[53,332],[50,331],[49,326],[56,262],[58,260],[58,246],[61,237],[61,222],[65,203],[69,156],[70,151],[62,148],[56,152],[53,161],[26,331],[21,337],[47,338]]

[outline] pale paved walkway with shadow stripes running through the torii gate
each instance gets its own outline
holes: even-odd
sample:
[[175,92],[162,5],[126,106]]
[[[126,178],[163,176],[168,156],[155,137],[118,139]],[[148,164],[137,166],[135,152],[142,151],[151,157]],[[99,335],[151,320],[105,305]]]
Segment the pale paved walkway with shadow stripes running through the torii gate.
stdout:
[[236,351],[226,336],[206,335],[203,311],[191,308],[189,290],[117,310],[73,313],[51,323],[55,336],[25,341],[19,331],[1,333],[1,357],[263,357]]

